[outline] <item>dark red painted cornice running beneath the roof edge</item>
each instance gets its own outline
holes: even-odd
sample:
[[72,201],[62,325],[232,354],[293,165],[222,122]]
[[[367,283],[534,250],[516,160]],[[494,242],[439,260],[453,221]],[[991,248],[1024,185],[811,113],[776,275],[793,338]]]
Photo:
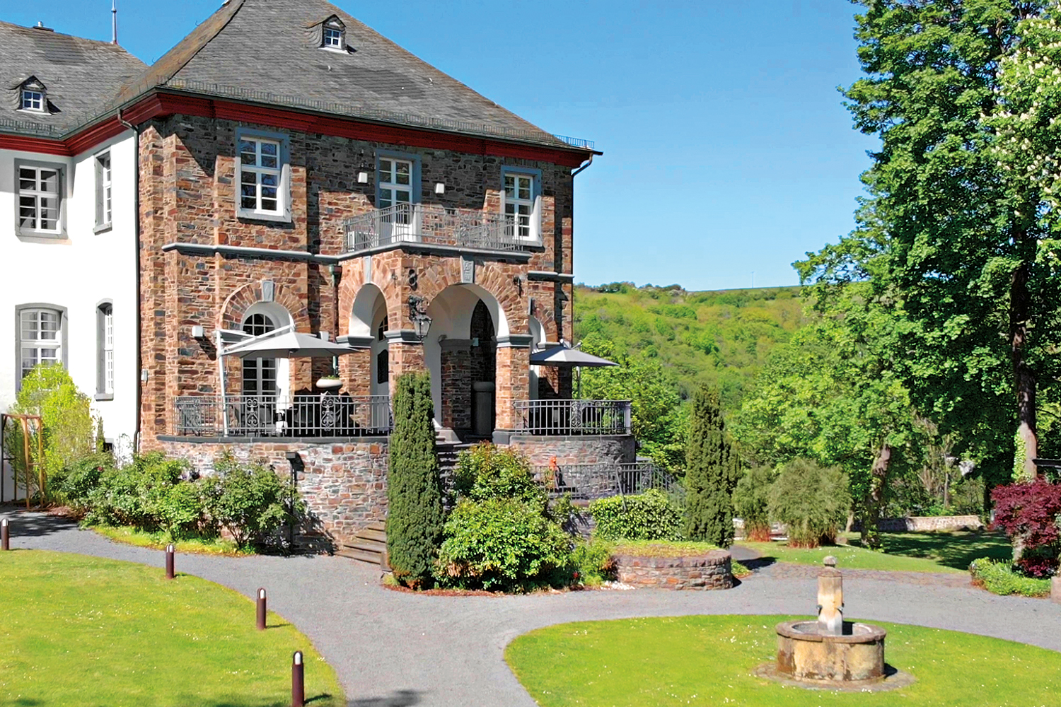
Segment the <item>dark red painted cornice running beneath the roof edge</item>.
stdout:
[[[318,132],[338,138],[386,142],[394,145],[427,147],[429,149],[450,149],[458,153],[490,155],[493,157],[515,157],[552,162],[553,164],[561,164],[570,167],[580,165],[591,154],[589,151],[558,149],[544,145],[506,142],[504,140],[476,138],[455,132],[440,132],[399,125],[369,123],[353,119],[296,112],[283,108],[248,105],[223,99],[193,96],[182,93],[153,93],[132,106],[122,109],[122,120],[133,125],[139,125],[154,118],[174,114],[221,118],[301,132]],[[116,113],[63,140],[0,135],[0,149],[20,149],[48,155],[80,155],[119,135],[124,129],[118,121]]]

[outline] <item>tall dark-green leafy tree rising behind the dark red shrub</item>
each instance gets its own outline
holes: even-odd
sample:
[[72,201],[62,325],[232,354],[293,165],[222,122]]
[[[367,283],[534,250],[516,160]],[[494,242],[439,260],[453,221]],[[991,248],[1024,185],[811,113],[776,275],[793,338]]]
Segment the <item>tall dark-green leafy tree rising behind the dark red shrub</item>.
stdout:
[[1038,387],[1059,372],[1057,249],[1041,217],[1048,201],[996,151],[1001,136],[1020,135],[997,123],[1021,105],[1007,94],[1007,57],[1046,3],[859,4],[866,76],[845,94],[857,128],[882,144],[863,175],[858,227],[798,264],[801,277],[869,280],[893,324],[885,359],[914,405],[992,483],[1009,476],[1016,427],[1033,475]]

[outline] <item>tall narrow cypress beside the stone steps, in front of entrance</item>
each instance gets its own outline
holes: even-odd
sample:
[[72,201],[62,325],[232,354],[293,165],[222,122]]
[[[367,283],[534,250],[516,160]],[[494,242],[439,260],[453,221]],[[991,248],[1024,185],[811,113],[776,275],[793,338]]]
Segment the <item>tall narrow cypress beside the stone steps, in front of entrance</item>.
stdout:
[[387,552],[395,577],[408,586],[431,581],[442,538],[442,489],[431,419],[431,374],[399,376],[387,470]]

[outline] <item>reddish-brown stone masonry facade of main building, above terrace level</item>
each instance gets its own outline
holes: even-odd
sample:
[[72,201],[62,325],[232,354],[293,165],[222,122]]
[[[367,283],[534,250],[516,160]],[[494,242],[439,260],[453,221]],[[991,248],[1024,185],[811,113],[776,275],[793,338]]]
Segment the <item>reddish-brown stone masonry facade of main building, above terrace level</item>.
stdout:
[[[344,223],[371,209],[376,198],[376,155],[380,149],[412,154],[420,160],[425,205],[463,209],[500,206],[503,165],[541,171],[542,246],[529,261],[475,257],[475,279],[500,303],[509,332],[528,334],[530,299],[547,340],[571,338],[570,282],[530,281],[529,271],[572,272],[573,179],[570,167],[549,162],[383,144],[268,125],[246,125],[282,132],[290,147],[291,222],[269,223],[237,216],[236,132],[230,120],[171,116],[141,126],[141,357],[147,379],[141,396],[143,438],[173,431],[173,397],[218,394],[218,328],[239,326],[256,298],[273,293],[303,332],[348,333],[353,297],[365,284],[364,259],[344,261],[336,287],[329,267],[312,260],[337,255],[344,247]],[[365,171],[368,183],[356,181]],[[435,193],[442,182],[446,191]],[[162,251],[170,244],[239,246],[306,253],[295,255],[223,255]],[[459,259],[401,250],[371,257],[372,282],[386,299],[392,329],[408,330],[406,301],[413,294],[406,275],[420,273],[418,294],[430,303],[442,288],[462,282]],[[265,286],[268,283],[268,286]],[[193,339],[202,325],[206,337]],[[395,351],[392,379],[402,368],[422,367],[412,347]],[[506,354],[525,369],[524,354]],[[351,361],[352,363],[352,361]],[[502,361],[499,361],[501,364]],[[293,360],[291,390],[308,388],[327,361]],[[345,367],[346,375],[364,365]],[[226,365],[231,389],[238,388],[239,364]],[[353,381],[348,381],[352,386]],[[564,381],[557,382],[563,387]],[[499,418],[507,397],[523,399],[525,370],[507,371],[498,382]],[[509,393],[508,389],[515,389]],[[499,426],[501,426],[499,420]]]

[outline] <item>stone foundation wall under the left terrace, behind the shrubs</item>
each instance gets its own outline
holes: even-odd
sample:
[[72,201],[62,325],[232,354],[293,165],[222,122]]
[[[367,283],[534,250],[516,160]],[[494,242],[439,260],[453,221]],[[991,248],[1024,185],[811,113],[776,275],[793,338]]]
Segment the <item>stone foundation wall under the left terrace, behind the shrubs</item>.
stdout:
[[295,545],[331,550],[358,530],[387,515],[387,440],[220,442],[209,438],[159,438],[155,445],[167,455],[187,459],[201,475],[213,474],[213,460],[229,450],[240,461],[271,465],[286,476],[289,452],[297,452],[305,469],[297,474],[298,491],[310,520],[299,529]]

